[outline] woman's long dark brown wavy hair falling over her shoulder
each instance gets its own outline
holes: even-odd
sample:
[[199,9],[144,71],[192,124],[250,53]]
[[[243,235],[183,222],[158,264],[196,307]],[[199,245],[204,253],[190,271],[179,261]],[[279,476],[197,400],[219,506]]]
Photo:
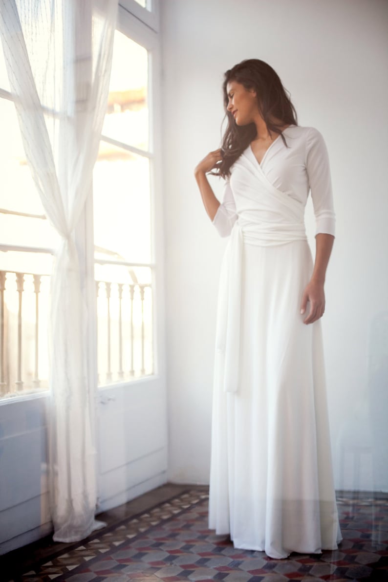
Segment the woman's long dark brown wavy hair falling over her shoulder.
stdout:
[[[251,141],[257,137],[257,129],[254,122],[240,127],[236,124],[232,112],[227,111],[229,99],[226,86],[229,81],[237,81],[245,89],[254,89],[256,91],[259,113],[264,119],[269,133],[271,133],[271,130],[275,133],[280,133],[284,125],[298,125],[296,110],[291,103],[290,97],[287,97],[287,93],[289,95],[290,93],[283,87],[282,81],[280,81],[279,76],[271,66],[259,59],[245,59],[234,65],[232,69],[228,69],[222,84],[223,104],[225,116],[228,120],[222,139],[222,161],[216,165],[218,172],[208,172],[215,176],[222,176],[222,178],[230,176],[230,166],[239,158]],[[280,119],[281,123],[273,122],[273,118]],[[284,145],[288,147],[283,134],[281,135]]]

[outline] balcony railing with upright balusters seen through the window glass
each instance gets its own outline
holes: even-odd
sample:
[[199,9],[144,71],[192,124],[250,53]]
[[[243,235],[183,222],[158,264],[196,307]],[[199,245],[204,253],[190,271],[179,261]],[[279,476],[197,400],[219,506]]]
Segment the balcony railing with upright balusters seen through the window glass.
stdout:
[[[153,374],[151,283],[96,288],[98,385]],[[49,275],[0,271],[0,397],[49,388],[49,304]]]

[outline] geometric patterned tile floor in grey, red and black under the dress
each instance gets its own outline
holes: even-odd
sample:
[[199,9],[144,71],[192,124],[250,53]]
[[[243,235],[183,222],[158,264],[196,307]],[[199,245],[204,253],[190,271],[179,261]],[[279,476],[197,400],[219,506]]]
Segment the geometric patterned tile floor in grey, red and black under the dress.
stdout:
[[337,498],[343,541],[321,555],[276,560],[233,547],[207,527],[208,494],[186,491],[147,512],[97,531],[23,574],[26,582],[388,581],[388,501]]

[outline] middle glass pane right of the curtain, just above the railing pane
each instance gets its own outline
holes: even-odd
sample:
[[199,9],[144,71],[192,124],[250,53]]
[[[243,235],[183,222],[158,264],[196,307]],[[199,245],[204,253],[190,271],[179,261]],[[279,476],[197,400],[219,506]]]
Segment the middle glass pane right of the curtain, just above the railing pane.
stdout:
[[148,158],[101,141],[93,172],[93,200],[99,256],[151,262]]

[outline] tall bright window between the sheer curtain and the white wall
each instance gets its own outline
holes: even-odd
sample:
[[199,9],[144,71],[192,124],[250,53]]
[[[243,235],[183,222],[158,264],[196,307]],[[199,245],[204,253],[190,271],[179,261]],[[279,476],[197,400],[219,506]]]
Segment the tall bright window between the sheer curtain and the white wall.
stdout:
[[99,385],[154,370],[148,59],[116,30],[93,176]]

